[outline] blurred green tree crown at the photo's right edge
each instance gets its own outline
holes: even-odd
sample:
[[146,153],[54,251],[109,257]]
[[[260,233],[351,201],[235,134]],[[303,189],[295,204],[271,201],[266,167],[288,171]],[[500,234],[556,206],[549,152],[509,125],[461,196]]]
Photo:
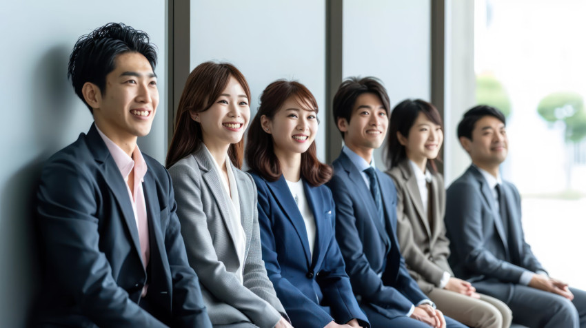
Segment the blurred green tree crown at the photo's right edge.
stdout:
[[565,140],[581,141],[586,137],[586,110],[583,96],[577,92],[553,92],[537,105],[538,114],[547,122],[565,124]]

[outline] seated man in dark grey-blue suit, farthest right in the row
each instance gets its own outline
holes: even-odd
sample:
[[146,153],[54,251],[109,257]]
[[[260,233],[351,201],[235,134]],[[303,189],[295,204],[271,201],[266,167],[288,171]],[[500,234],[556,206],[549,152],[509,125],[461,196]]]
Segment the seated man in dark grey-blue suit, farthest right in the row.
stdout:
[[550,278],[525,243],[521,197],[498,167],[507,157],[505,116],[478,105],[458,138],[472,165],[447,189],[445,225],[456,276],[502,300],[527,327],[586,327],[586,293]]

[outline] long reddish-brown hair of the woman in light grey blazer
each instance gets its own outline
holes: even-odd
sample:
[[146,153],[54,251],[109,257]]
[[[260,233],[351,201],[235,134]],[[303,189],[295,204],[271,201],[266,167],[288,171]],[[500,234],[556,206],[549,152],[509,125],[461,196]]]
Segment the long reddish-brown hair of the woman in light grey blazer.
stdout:
[[[191,118],[191,113],[205,112],[210,109],[230,82],[230,76],[240,83],[250,101],[250,88],[244,75],[229,63],[206,61],[199,64],[189,74],[179,99],[179,107],[177,107],[175,130],[165,161],[167,168],[201,146],[203,142],[201,125]],[[228,148],[230,161],[238,168],[242,167],[243,149],[244,140],[232,143]]]

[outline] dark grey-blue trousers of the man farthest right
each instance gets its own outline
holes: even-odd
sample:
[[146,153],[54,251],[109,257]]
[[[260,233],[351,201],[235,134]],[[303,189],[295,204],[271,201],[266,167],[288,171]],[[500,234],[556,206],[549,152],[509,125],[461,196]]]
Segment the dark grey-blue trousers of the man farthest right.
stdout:
[[586,328],[586,291],[570,288],[574,300],[533,287],[512,283],[474,283],[480,293],[506,303],[513,322],[527,327]]

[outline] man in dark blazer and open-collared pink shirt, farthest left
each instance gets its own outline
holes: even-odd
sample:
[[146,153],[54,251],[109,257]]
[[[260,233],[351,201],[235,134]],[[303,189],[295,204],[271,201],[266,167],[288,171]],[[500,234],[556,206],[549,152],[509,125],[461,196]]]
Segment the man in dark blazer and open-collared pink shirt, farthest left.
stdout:
[[169,174],[141,154],[159,103],[148,34],[110,23],[81,37],[68,76],[94,116],[43,168],[41,327],[211,327]]

